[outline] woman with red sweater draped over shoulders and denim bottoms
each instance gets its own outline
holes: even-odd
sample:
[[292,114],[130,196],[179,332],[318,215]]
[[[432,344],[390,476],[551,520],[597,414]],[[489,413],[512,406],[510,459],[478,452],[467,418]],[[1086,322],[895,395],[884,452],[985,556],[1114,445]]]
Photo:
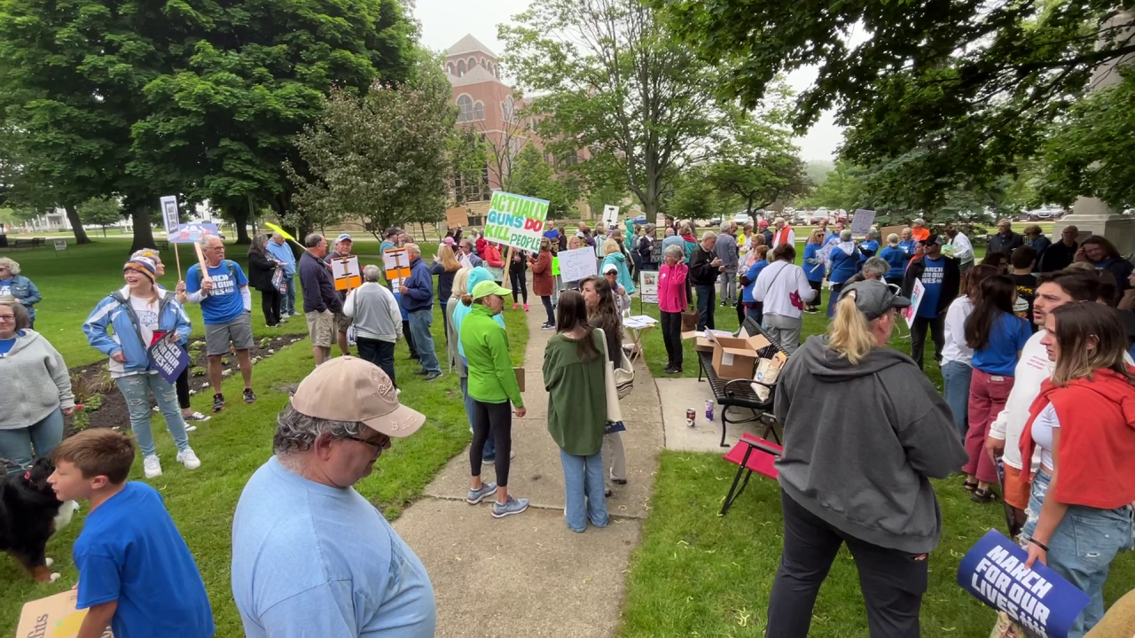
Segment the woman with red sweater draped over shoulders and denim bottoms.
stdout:
[[[1091,596],[1068,632],[1081,638],[1103,618],[1112,559],[1132,545],[1135,368],[1124,362],[1127,336],[1107,305],[1062,305],[1044,328],[1056,368],[1020,436],[1022,459],[1041,448],[1022,538],[1026,566],[1040,560]],[[1026,463],[1022,476],[1028,472]]]

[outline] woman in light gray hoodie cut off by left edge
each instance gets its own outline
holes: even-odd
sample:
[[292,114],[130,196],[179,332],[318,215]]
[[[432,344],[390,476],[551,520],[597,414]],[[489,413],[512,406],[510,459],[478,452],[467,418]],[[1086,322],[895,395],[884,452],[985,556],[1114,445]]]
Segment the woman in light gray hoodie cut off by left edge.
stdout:
[[64,358],[30,325],[19,301],[0,297],[0,467],[9,473],[50,456],[64,437],[64,414],[75,412]]

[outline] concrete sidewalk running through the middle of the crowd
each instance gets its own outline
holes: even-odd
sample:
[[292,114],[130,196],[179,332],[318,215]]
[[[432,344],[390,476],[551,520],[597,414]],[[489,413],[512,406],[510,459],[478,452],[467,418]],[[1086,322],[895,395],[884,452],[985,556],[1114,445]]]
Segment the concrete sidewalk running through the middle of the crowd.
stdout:
[[[575,534],[564,523],[560,448],[547,431],[547,394],[540,369],[554,334],[541,330],[544,313],[506,310],[505,321],[527,319],[529,343],[524,405],[513,420],[516,457],[508,493],[529,498],[528,511],[494,519],[489,502],[465,503],[469,453],[453,457],[394,527],[429,570],[437,594],[437,635],[613,636],[624,594],[624,571],[649,511],[658,452],[662,406],[650,372],[636,366],[634,391],[620,405],[627,423],[628,484],[607,500],[604,529]],[[494,469],[482,469],[494,480]]]

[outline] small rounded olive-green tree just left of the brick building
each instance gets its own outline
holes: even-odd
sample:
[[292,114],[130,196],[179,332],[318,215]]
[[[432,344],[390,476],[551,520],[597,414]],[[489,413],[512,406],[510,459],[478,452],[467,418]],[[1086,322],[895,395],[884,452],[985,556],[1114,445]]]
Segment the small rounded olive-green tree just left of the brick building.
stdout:
[[316,124],[295,137],[310,176],[286,165],[296,209],[288,224],[363,219],[379,237],[394,224],[437,221],[449,200],[456,107],[436,60],[422,59],[413,81],[376,82],[364,95],[333,90]]

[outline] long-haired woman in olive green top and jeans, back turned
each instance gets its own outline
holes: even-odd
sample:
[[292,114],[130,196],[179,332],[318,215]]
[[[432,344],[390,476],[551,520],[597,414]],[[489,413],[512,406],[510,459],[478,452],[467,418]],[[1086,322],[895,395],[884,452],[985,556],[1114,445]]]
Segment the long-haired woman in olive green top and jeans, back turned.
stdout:
[[560,331],[548,339],[544,351],[548,433],[560,446],[564,467],[568,527],[582,534],[588,519],[595,527],[607,526],[607,501],[603,494],[607,359],[603,355],[603,337],[587,321],[583,295],[575,291],[561,293],[556,326]]

